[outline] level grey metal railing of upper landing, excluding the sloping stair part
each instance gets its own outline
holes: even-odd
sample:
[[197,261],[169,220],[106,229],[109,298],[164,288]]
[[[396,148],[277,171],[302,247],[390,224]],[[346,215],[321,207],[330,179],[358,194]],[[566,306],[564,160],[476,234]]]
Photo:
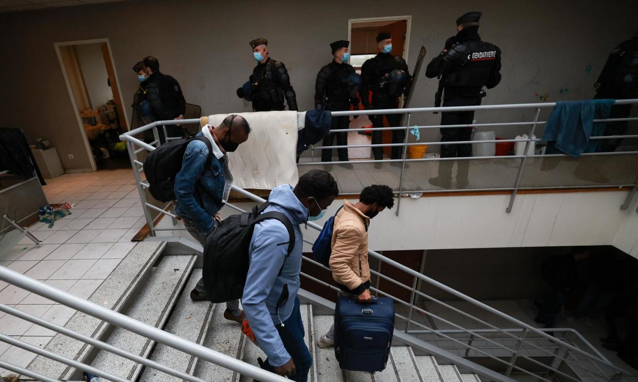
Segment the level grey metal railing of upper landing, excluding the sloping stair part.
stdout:
[[[616,104],[638,104],[638,99],[618,99],[616,100]],[[393,130],[405,130],[405,139],[403,143],[384,143],[378,145],[343,145],[343,146],[318,146],[316,147],[318,150],[322,148],[364,148],[364,147],[394,147],[394,146],[403,146],[403,159],[384,159],[384,160],[353,160],[349,162],[342,161],[331,161],[331,162],[314,162],[313,159],[311,161],[304,161],[304,158],[300,160],[297,164],[299,167],[305,166],[323,166],[323,165],[331,165],[331,164],[383,164],[383,163],[400,163],[401,164],[401,174],[399,176],[399,187],[398,190],[394,191],[397,194],[397,208],[396,215],[399,216],[399,211],[401,209],[401,199],[405,192],[410,193],[431,193],[431,192],[461,192],[461,191],[508,191],[510,192],[510,201],[506,208],[506,212],[510,213],[512,208],[514,207],[514,200],[516,199],[517,192],[519,190],[543,190],[543,189],[563,189],[563,188],[623,188],[629,187],[630,190],[627,194],[625,202],[620,206],[621,209],[627,209],[634,198],[634,195],[638,192],[638,179],[635,181],[628,181],[626,183],[609,183],[609,184],[596,184],[596,185],[549,185],[549,186],[535,186],[535,187],[523,187],[521,185],[521,181],[523,179],[523,175],[526,169],[526,162],[530,157],[528,156],[528,148],[532,143],[536,143],[538,141],[542,141],[542,139],[532,138],[536,128],[539,125],[544,125],[546,121],[538,120],[540,116],[540,111],[542,109],[553,108],[556,106],[556,103],[529,103],[529,104],[500,104],[500,105],[479,105],[479,106],[445,106],[445,107],[436,107],[436,108],[406,108],[406,109],[384,109],[384,110],[356,110],[356,111],[333,111],[332,115],[335,117],[338,116],[353,116],[353,115],[380,115],[380,114],[407,114],[406,118],[406,126],[401,127],[378,127],[375,130],[378,131],[393,131]],[[433,112],[447,112],[447,111],[486,111],[486,110],[513,110],[513,109],[521,109],[521,110],[535,110],[535,117],[533,120],[525,121],[525,122],[495,122],[495,123],[482,123],[482,124],[468,124],[468,125],[415,125],[410,126],[410,118],[412,113],[433,113]],[[606,118],[606,119],[595,119],[593,122],[619,122],[619,121],[638,121],[638,117],[630,117],[630,118]],[[144,216],[147,223],[147,226],[151,230],[151,236],[155,236],[156,229],[154,226],[154,221],[151,216],[149,209],[156,211],[158,213],[163,213],[171,218],[175,219],[175,215],[168,212],[167,209],[172,206],[172,202],[164,204],[161,207],[155,206],[149,203],[145,190],[149,188],[149,184],[142,180],[142,173],[144,163],[138,160],[137,155],[144,150],[152,151],[155,148],[159,147],[159,134],[158,128],[163,129],[164,134],[167,134],[167,125],[188,125],[188,124],[200,124],[200,120],[198,118],[184,119],[184,120],[164,120],[164,121],[156,121],[151,122],[150,124],[144,125],[142,127],[138,127],[137,129],[133,129],[131,131],[125,132],[119,138],[126,142],[126,146],[128,148],[129,157],[131,160],[131,166],[133,166],[133,173],[135,174],[135,180],[138,185],[138,192],[140,193],[140,199],[144,208]],[[428,130],[428,129],[450,129],[455,127],[491,127],[491,126],[500,126],[500,127],[521,127],[521,126],[529,126],[530,129],[528,131],[527,139],[496,139],[496,140],[486,140],[486,141],[455,141],[455,142],[416,142],[416,143],[408,143],[408,132],[410,129],[420,130]],[[153,141],[151,143],[145,143],[140,139],[136,138],[138,134],[142,132],[152,130]],[[356,131],[371,131],[371,129],[336,129],[331,130],[330,133],[334,132],[356,132]],[[167,135],[165,135],[167,136]],[[624,136],[596,136],[591,137],[590,139],[629,139],[629,138],[638,138],[638,134],[633,135],[624,135]],[[167,138],[167,141],[180,139],[180,138]],[[470,143],[506,143],[506,142],[525,142],[524,155],[507,155],[507,156],[493,156],[493,157],[458,157],[458,158],[422,158],[422,159],[407,159],[406,154],[408,147],[410,146],[423,146],[423,145],[447,145],[447,144],[470,144]],[[311,146],[311,149],[314,149]],[[638,155],[638,151],[627,151],[627,152],[599,152],[599,153],[582,153],[581,157],[614,157],[616,155]],[[534,156],[533,158],[554,158],[554,157],[565,157],[570,158],[569,155],[565,154],[547,154]],[[457,188],[457,189],[441,189],[441,190],[405,190],[404,188],[404,175],[406,164],[409,163],[420,163],[420,162],[445,162],[445,161],[457,161],[457,160],[520,160],[518,165],[518,171],[516,175],[516,180],[514,180],[512,187],[491,187],[491,188]],[[343,192],[341,195],[352,195],[352,192]],[[638,212],[638,209],[636,210]],[[170,230],[170,229],[164,229]]]

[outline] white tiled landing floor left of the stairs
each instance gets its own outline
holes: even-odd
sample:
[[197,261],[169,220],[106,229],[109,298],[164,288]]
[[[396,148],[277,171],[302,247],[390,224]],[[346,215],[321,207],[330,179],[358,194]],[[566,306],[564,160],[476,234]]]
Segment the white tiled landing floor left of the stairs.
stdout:
[[[71,215],[52,228],[30,227],[43,244],[28,238],[3,248],[0,265],[87,299],[115,269],[135,243],[131,238],[144,225],[144,213],[131,169],[64,174],[47,180],[48,202],[75,203]],[[75,311],[40,295],[0,281],[0,304],[64,325]],[[46,346],[54,332],[0,313],[0,333],[36,346]],[[0,360],[26,367],[35,355],[0,342]],[[0,376],[6,371],[0,369]]]

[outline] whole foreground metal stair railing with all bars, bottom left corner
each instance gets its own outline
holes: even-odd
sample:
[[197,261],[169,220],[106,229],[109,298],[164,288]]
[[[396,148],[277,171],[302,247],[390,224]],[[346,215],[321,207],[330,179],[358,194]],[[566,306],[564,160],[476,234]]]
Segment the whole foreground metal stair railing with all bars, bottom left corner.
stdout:
[[[170,346],[170,348],[174,348],[175,350],[183,351],[184,353],[188,353],[189,355],[193,355],[194,357],[200,358],[200,360],[205,360],[207,362],[211,362],[216,365],[220,365],[225,369],[230,369],[232,371],[236,371],[241,373],[244,376],[248,376],[251,378],[258,379],[260,381],[265,382],[286,382],[288,379],[278,376],[277,374],[273,374],[271,372],[265,371],[251,364],[247,364],[241,360],[237,360],[234,357],[230,357],[223,353],[219,353],[218,351],[214,351],[209,348],[205,348],[202,345],[193,343],[188,341],[187,339],[183,339],[182,337],[175,336],[174,334],[170,334],[165,332],[164,330],[158,329],[151,325],[147,325],[146,323],[139,322],[133,318],[122,315],[121,313],[117,313],[108,308],[104,308],[98,304],[95,304],[90,301],[86,301],[80,297],[69,294],[68,292],[64,292],[53,286],[43,283],[42,281],[38,281],[36,279],[30,278],[29,276],[25,276],[24,274],[20,274],[19,272],[13,271],[6,267],[0,266],[0,280],[10,285],[18,286],[24,290],[29,292],[33,292],[34,294],[41,295],[42,297],[46,297],[52,301],[58,302],[64,306],[68,306],[70,308],[76,309],[77,311],[86,313],[89,316],[93,316],[94,318],[98,318],[99,320],[103,320],[117,327],[121,327],[122,329],[130,330],[131,332],[138,334],[142,337],[152,339],[157,343],[165,344]],[[164,365],[158,364],[149,359],[145,359],[139,357],[137,355],[128,353],[123,350],[119,350],[114,348],[107,343],[103,343],[97,339],[93,339],[91,337],[84,336],[77,332],[73,332],[72,330],[60,327],[59,325],[55,325],[50,322],[46,322],[41,318],[30,315],[29,313],[24,313],[21,311],[17,311],[16,309],[10,308],[3,304],[0,304],[0,311],[3,311],[9,315],[15,315],[23,320],[27,320],[29,322],[33,322],[37,325],[41,325],[47,329],[54,330],[60,334],[65,336],[69,336],[71,338],[77,339],[78,341],[82,341],[91,346],[95,346],[96,348],[100,348],[102,350],[110,351],[115,355],[119,355],[124,358],[128,358],[135,362],[138,362],[142,365],[146,365],[148,367],[152,367],[161,372],[165,372],[166,374],[170,374],[177,378],[184,379],[189,382],[204,382],[202,379],[197,378],[195,376],[191,376],[184,372],[176,371],[174,369],[170,369]],[[76,360],[72,360],[70,358],[63,357],[61,355],[57,355],[52,351],[48,351],[46,349],[39,348],[38,346],[34,346],[32,344],[25,343],[24,341],[20,341],[19,339],[14,339],[10,336],[5,336],[4,334],[0,334],[0,341],[4,343],[11,344],[16,346],[17,348],[22,348],[27,351],[31,351],[32,353],[36,353],[43,357],[50,358],[57,362],[61,362],[63,364],[69,365],[78,369],[80,371],[91,372],[96,376],[101,378],[108,379],[110,381],[116,382],[130,382],[127,379],[120,378],[113,374],[110,374],[108,371],[102,371],[91,367],[90,365],[83,364],[82,362],[78,362]],[[17,365],[12,365],[7,362],[0,362],[0,367],[4,369],[11,370],[13,372],[18,372],[22,375],[29,376],[31,378],[35,378],[38,381],[57,381],[57,379],[51,379],[46,376],[41,376],[40,374],[28,371],[24,368],[18,367]]]

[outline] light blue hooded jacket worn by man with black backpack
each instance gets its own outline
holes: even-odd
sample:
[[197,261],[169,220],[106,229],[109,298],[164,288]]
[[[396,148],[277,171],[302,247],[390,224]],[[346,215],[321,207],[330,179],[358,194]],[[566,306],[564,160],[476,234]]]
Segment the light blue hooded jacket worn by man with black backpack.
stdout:
[[[264,220],[255,225],[248,250],[250,265],[242,296],[246,318],[263,352],[268,356],[269,364],[274,367],[290,360],[275,325],[281,325],[292,314],[300,285],[303,236],[299,225],[308,220],[308,208],[301,204],[292,190],[290,185],[272,190],[268,198],[271,205],[264,212],[279,211],[288,216],[295,230],[295,248],[290,257],[285,259],[288,245],[282,243],[288,243],[290,237],[279,220]],[[284,260],[281,276],[278,276]],[[277,309],[285,285],[288,286],[288,300]]]

